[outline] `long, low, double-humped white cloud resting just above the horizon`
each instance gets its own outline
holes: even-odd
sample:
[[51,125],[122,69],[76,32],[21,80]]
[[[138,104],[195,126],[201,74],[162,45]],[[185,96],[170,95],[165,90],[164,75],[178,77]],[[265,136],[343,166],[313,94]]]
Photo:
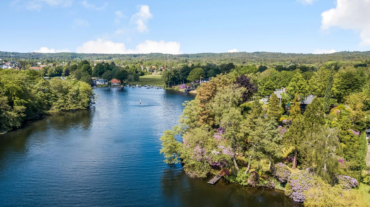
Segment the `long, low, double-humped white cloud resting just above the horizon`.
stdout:
[[112,42],[98,38],[96,41],[88,41],[77,47],[77,53],[107,53],[107,54],[129,54],[129,53],[169,53],[181,54],[179,42],[165,42],[145,40],[139,43],[135,49],[127,49],[124,43]]

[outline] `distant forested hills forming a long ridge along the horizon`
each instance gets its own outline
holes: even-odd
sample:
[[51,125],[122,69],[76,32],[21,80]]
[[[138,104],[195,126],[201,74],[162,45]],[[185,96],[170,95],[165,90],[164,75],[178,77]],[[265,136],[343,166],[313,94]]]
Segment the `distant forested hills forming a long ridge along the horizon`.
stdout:
[[[18,53],[0,52],[0,58],[16,58],[19,60],[42,60],[47,62],[71,61],[71,60],[113,60],[117,63],[125,62],[137,64],[151,62],[165,64],[167,54],[86,54],[86,53]],[[331,54],[302,54],[302,53],[274,53],[274,52],[238,52],[238,53],[196,53],[169,55],[170,63],[175,66],[178,63],[229,63],[234,64],[315,64],[320,65],[329,61],[361,62],[370,60],[370,51],[366,52],[337,52]],[[174,65],[175,64],[175,65]]]

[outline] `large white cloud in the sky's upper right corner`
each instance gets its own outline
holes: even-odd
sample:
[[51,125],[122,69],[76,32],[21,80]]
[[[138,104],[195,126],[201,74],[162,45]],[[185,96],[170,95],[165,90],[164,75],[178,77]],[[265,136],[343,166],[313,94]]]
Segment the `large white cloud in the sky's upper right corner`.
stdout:
[[362,46],[370,45],[370,0],[337,0],[336,7],[321,17],[321,29],[353,29],[360,33]]

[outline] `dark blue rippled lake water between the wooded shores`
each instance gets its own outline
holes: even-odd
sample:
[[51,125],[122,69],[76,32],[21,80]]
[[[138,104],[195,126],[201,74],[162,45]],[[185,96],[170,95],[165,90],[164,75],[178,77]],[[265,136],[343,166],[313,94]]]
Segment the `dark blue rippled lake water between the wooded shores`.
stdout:
[[0,206],[293,205],[283,192],[225,180],[212,186],[163,162],[159,137],[193,96],[145,88],[95,93],[93,109],[0,135]]

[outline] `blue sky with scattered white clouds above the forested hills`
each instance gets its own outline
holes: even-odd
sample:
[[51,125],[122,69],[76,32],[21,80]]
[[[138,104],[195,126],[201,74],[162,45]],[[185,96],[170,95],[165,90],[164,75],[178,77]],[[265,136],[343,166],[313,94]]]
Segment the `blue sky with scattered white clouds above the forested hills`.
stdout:
[[8,52],[370,50],[370,0],[14,0],[2,8],[0,51]]

